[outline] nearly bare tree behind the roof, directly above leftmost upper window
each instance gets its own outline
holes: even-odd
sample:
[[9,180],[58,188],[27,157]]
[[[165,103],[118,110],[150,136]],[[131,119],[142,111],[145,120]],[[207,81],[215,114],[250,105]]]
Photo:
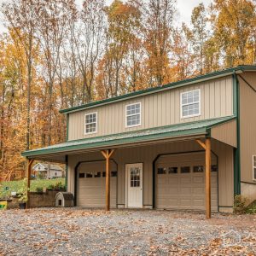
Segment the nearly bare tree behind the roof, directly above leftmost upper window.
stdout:
[[72,29],[76,61],[83,79],[82,103],[91,102],[96,79],[96,65],[102,54],[104,32],[104,1],[85,0],[80,22]]

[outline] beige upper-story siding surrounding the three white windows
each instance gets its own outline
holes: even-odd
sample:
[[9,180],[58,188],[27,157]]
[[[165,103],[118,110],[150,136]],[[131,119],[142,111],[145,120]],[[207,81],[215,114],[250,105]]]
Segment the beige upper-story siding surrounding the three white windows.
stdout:
[[[233,114],[232,83],[232,78],[229,76],[69,113],[68,140],[230,116]],[[180,94],[195,89],[201,89],[201,115],[181,119]],[[135,102],[142,103],[142,124],[125,128],[125,106]],[[98,116],[97,132],[84,135],[84,114],[93,112],[97,112]]]

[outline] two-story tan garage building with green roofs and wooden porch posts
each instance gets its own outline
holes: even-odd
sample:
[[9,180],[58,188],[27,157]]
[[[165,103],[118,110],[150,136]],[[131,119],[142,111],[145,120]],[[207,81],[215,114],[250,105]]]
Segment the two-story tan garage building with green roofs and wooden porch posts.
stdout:
[[110,197],[110,207],[205,210],[211,202],[231,212],[235,195],[256,199],[255,66],[60,112],[67,142],[22,155],[66,163],[76,206],[105,207]]

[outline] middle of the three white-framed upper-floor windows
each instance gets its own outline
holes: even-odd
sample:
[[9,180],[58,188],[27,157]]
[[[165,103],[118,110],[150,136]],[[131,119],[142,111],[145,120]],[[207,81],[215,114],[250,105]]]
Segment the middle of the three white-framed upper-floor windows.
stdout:
[[141,125],[141,102],[126,106],[126,127]]

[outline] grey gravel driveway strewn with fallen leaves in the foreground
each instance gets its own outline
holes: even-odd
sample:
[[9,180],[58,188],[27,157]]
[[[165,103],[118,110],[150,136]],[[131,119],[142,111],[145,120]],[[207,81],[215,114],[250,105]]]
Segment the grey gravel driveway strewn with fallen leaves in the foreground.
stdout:
[[256,254],[255,215],[42,208],[0,219],[0,255]]

